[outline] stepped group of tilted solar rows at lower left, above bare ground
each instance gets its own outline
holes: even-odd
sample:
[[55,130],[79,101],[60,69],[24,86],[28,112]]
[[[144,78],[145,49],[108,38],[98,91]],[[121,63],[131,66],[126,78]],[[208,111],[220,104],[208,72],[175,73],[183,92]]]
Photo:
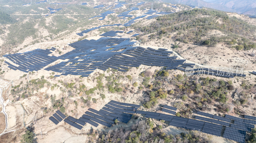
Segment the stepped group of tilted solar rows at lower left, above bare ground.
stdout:
[[89,123],[95,127],[97,127],[99,124],[111,127],[111,125],[115,123],[116,119],[120,122],[128,123],[132,117],[132,114],[129,113],[135,113],[139,107],[140,105],[121,103],[111,100],[105,105],[105,107],[100,109],[100,111],[89,108],[88,111],[86,111],[85,114],[79,119],[71,116],[66,118],[66,116],[59,110],[56,111],[56,113],[59,114],[61,118],[54,113],[53,116],[56,119],[52,116],[49,119],[57,125],[60,121],[62,121],[62,119],[65,118],[64,122],[76,127],[79,130],[81,130],[86,123]]

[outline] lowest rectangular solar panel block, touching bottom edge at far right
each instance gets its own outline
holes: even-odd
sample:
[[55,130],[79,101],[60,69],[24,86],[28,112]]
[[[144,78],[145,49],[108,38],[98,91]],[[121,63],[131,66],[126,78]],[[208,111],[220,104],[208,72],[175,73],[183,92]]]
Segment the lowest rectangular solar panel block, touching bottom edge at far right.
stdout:
[[231,139],[240,143],[244,143],[245,142],[245,131],[239,130],[239,129],[235,129],[232,127],[226,127],[225,131],[224,131],[224,135],[223,138],[226,139]]

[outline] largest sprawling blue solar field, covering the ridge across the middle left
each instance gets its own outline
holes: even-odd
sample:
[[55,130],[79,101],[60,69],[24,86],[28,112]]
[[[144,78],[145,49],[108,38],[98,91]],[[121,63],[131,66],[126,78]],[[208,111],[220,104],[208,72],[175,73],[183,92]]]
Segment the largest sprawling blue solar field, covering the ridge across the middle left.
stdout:
[[5,55],[5,57],[19,65],[17,67],[6,61],[10,68],[24,72],[37,71],[56,60],[68,59],[44,70],[58,72],[60,75],[80,75],[84,77],[89,76],[97,68],[104,71],[113,68],[122,72],[126,72],[128,67],[139,67],[140,65],[175,69],[186,61],[177,60],[177,56],[170,57],[172,52],[166,51],[166,49],[133,47],[134,43],[129,38],[102,37],[98,40],[84,39],[69,44],[75,49],[59,57],[48,56],[52,53],[50,50],[54,51],[55,48],[36,49],[21,54]]

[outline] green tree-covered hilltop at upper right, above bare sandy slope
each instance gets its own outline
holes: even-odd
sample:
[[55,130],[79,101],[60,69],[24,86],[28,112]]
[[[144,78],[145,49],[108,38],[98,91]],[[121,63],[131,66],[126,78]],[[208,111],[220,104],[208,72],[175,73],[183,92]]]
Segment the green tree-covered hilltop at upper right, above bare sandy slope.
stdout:
[[[222,23],[219,23],[216,19],[220,19]],[[250,25],[236,17],[228,17],[223,11],[206,9],[180,11],[161,16],[150,25],[141,27],[135,24],[133,27],[144,32],[144,34],[153,33],[150,35],[151,39],[171,38],[169,35],[177,32],[172,38],[183,43],[195,42],[206,46],[215,46],[219,42],[227,42],[229,45],[233,45],[236,43],[230,42],[230,39],[239,39],[237,42],[238,46],[234,46],[238,50],[249,50],[256,47],[256,43],[250,40],[253,37],[252,33],[255,32],[256,26]],[[206,36],[207,32],[213,29],[224,32],[228,36],[212,36],[210,39],[203,40],[202,37]],[[174,48],[177,47],[178,45],[175,45]]]

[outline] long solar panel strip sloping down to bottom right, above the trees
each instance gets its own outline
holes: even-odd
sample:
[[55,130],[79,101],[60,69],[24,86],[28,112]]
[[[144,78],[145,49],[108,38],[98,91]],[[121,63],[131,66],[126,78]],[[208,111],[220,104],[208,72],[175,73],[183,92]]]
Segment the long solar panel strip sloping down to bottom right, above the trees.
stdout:
[[[148,111],[136,111],[136,113],[146,114],[145,115],[146,118],[154,118],[158,120],[169,121],[170,122],[169,125],[172,125],[172,126],[185,128],[189,130],[196,130],[196,131],[200,131],[200,132],[204,132],[204,133],[212,134],[216,136],[221,136],[222,123],[227,123],[227,122],[222,122],[218,120],[212,121],[213,119],[211,120],[209,118],[204,118],[199,116],[196,116],[196,119],[199,119],[199,120],[195,120],[195,119],[177,117],[177,116],[166,115],[166,114],[156,113],[156,112],[148,112]],[[223,125],[227,125],[227,124],[223,124]],[[228,125],[230,125],[230,127],[229,126],[226,127],[223,137],[227,139],[235,140],[240,143],[244,143],[246,131],[241,130],[239,125],[230,124],[230,123]]]

